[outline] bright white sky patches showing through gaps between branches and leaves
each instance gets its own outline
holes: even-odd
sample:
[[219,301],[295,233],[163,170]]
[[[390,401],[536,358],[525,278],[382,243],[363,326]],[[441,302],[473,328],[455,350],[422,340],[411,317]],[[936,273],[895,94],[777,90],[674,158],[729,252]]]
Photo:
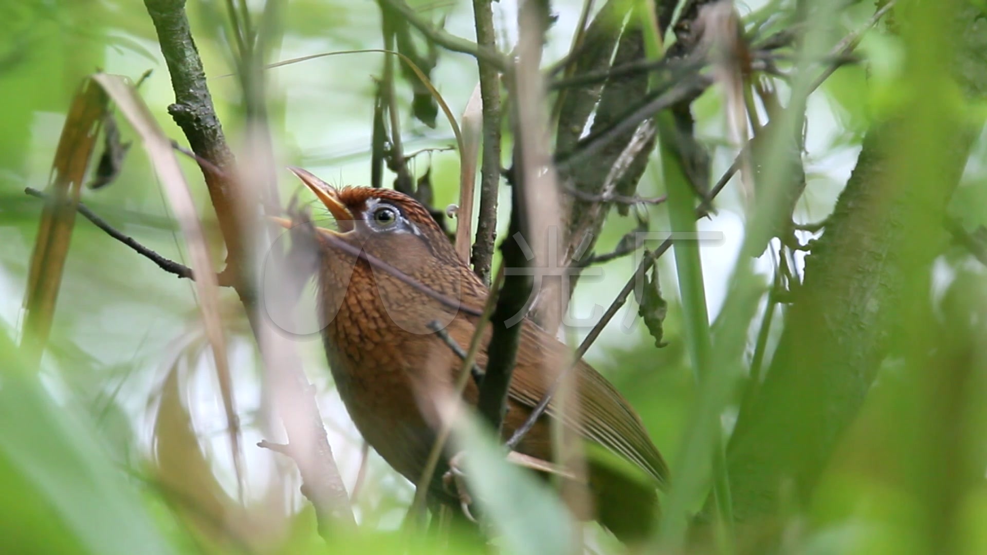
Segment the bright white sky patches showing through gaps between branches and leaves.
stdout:
[[[764,4],[763,1],[750,1],[746,5],[751,9],[756,9]],[[506,30],[507,40],[514,40],[515,33],[515,9],[516,0],[500,0],[493,4],[498,28]],[[547,48],[546,59],[554,60],[562,56],[569,49],[571,33],[576,25],[581,8],[581,1],[576,0],[556,0],[553,6],[559,15],[559,22],[553,28],[551,41]],[[748,9],[741,6],[741,13],[746,13]],[[354,3],[347,12],[351,18],[346,28],[334,31],[325,40],[285,40],[282,47],[281,59],[312,54],[316,52],[334,51],[360,47],[369,47],[374,41],[379,41],[379,25],[377,23],[377,7],[372,2]],[[365,18],[365,20],[364,20]],[[465,38],[473,39],[473,16],[469,3],[459,2],[457,7],[450,13],[446,22],[446,29]],[[373,39],[368,39],[367,34],[374,34]],[[150,51],[157,53],[156,44],[145,43]],[[503,47],[503,43],[501,43]],[[134,59],[133,54],[127,52],[109,51],[107,60],[107,70],[114,73],[127,75],[139,75],[147,67],[146,59]],[[370,115],[370,95],[367,91],[372,87],[371,75],[379,73],[381,54],[358,54],[352,56],[337,56],[324,58],[322,60],[310,61],[302,64],[295,64],[274,70],[271,73],[271,86],[283,94],[286,110],[285,128],[290,129],[286,135],[286,141],[278,146],[281,154],[292,162],[302,162],[302,165],[321,175],[331,183],[345,184],[365,184],[369,181],[369,168],[366,159],[350,158],[340,162],[327,162],[343,154],[359,152],[365,149],[364,145],[370,143],[370,129],[367,126]],[[224,63],[219,59],[207,59],[207,73],[216,74],[217,69]],[[446,101],[450,104],[454,113],[461,114],[466,101],[476,85],[476,65],[469,56],[462,54],[450,54],[441,58],[438,67],[433,75],[433,80],[440,85],[440,91]],[[213,80],[212,86],[214,95],[222,98],[231,94],[229,82],[217,82]],[[144,89],[144,94],[149,105],[157,110],[167,106],[172,102],[172,93],[168,82],[167,72],[163,64],[156,69],[155,75],[148,82]],[[325,118],[312,118],[310,111],[313,106],[327,106],[328,111],[334,115],[332,128],[325,127]],[[817,220],[829,211],[829,207],[835,200],[839,188],[833,184],[844,184],[850,171],[856,162],[856,149],[832,150],[831,142],[833,137],[839,132],[839,125],[830,110],[828,101],[821,95],[814,95],[808,103],[808,162],[807,172],[820,176],[818,183],[810,181],[807,187],[808,197],[812,206],[809,215],[802,215],[804,220]],[[33,166],[38,170],[35,172],[31,185],[38,189],[43,188],[47,175],[47,168],[53,153],[53,144],[57,141],[60,121],[51,121],[50,115],[39,115],[36,129],[38,136],[33,137],[38,148],[33,148],[32,152],[38,153],[37,163]],[[410,125],[409,119],[405,119],[406,128]],[[703,137],[723,136],[724,121],[705,121],[699,128],[699,133]],[[447,130],[441,114],[438,118],[438,130],[430,131],[432,136],[445,137],[443,142],[448,142],[451,133]],[[434,141],[433,141],[434,142]],[[42,146],[43,145],[43,146]],[[302,146],[304,145],[304,146]],[[410,150],[414,149],[409,147]],[[824,158],[818,158],[820,153],[827,153]],[[722,171],[732,161],[735,152],[726,148],[718,148],[714,160],[714,179],[721,175]],[[137,154],[137,155],[142,155]],[[305,161],[322,161],[321,164],[305,164]],[[287,179],[287,176],[284,176]],[[643,195],[656,194],[655,184],[643,183]],[[818,187],[814,187],[818,185]],[[711,219],[704,219],[700,222],[701,230],[717,230],[724,234],[724,241],[720,245],[707,246],[701,250],[702,262],[704,266],[704,276],[706,279],[706,291],[711,318],[719,312],[723,295],[728,283],[729,274],[736,258],[737,250],[742,240],[743,218],[737,209],[739,202],[734,193],[735,184],[730,185],[724,195],[717,201],[720,208],[719,213]],[[501,207],[506,208],[509,202],[507,198],[502,198]],[[805,206],[803,200],[799,206]],[[506,223],[506,211],[501,213],[501,221]],[[4,248],[25,249],[25,257],[30,251],[29,245],[7,245]],[[108,247],[109,248],[109,247]],[[133,255],[136,256],[136,255]],[[70,255],[71,258],[71,255]],[[25,260],[27,260],[25,258]],[[603,304],[606,306],[613,299],[615,292],[623,286],[632,270],[632,260],[622,259],[613,262],[605,267],[605,276],[601,279],[585,280],[580,283],[576,290],[572,303],[573,316],[584,317],[591,313],[592,305]],[[672,257],[663,258],[662,283],[666,294],[675,290],[674,267]],[[135,262],[135,267],[140,263]],[[767,272],[770,264],[767,260],[762,260],[759,268]],[[135,268],[134,272],[151,273],[158,272],[156,268],[144,269]],[[24,293],[24,284],[20,277],[12,279],[0,273],[0,317],[9,324],[20,322],[21,299]],[[631,310],[636,310],[633,302],[629,303]],[[625,334],[621,332],[619,321],[623,318],[623,311],[618,314],[615,321],[604,332],[598,345],[629,345],[639,341],[637,334]],[[57,316],[56,316],[57,317]],[[117,319],[114,314],[95,314],[94,318],[99,322],[96,329],[103,329],[103,326],[113,330],[114,322],[133,322],[135,319]],[[137,318],[136,321],[148,322],[147,318]],[[163,316],[160,319],[151,320],[149,329],[140,330],[117,330],[121,335],[129,334],[132,342],[125,348],[116,345],[103,345],[104,349],[99,349],[96,355],[108,364],[120,360],[138,360],[150,366],[151,371],[135,371],[134,375],[155,376],[162,375],[160,372],[160,361],[162,353],[167,349],[167,342],[175,336],[176,330],[181,329],[181,322],[176,322],[174,317]],[[117,326],[118,327],[118,326]],[[585,332],[585,330],[583,330]],[[151,340],[143,342],[142,337],[150,335]],[[164,337],[158,337],[163,335]],[[99,344],[96,342],[95,344]],[[330,390],[329,373],[326,369],[325,358],[322,354],[320,342],[313,341],[300,344],[300,349],[308,364],[308,373],[321,391]],[[598,348],[590,351],[589,358],[603,357],[604,354]],[[231,359],[238,362],[241,368],[248,366],[252,359],[252,354],[244,345],[239,345],[234,349]],[[225,427],[225,418],[222,407],[215,393],[214,378],[209,364],[203,363],[198,372],[198,387],[192,388],[191,406],[195,415],[196,423],[204,436],[211,437],[208,442],[209,450],[215,457],[216,463],[224,468],[223,474],[230,478],[228,484],[232,485],[232,473],[230,459],[228,456],[228,446],[222,436]],[[235,366],[236,368],[236,366]],[[235,371],[245,371],[235,369]],[[127,410],[132,411],[137,422],[144,423],[141,427],[142,433],[149,437],[150,422],[148,422],[148,412],[143,400],[147,398],[149,391],[153,390],[153,379],[136,380],[127,384],[127,391],[130,395],[121,395],[121,399],[129,398]],[[258,408],[260,392],[258,390],[258,380],[241,379],[237,382],[237,398],[241,414],[252,413]],[[357,434],[348,422],[342,403],[335,392],[327,393],[321,397],[321,404],[324,418],[327,420],[327,431],[330,435],[330,442],[334,446],[338,462],[341,466],[342,475],[347,485],[352,484],[359,463],[358,448],[359,442]],[[247,422],[248,419],[244,418]],[[263,477],[270,469],[270,453],[254,446],[262,437],[257,432],[249,432],[244,437],[244,451],[246,468],[252,476],[252,482],[263,483]],[[276,437],[272,439],[277,439]],[[390,487],[388,484],[374,484],[373,479],[387,476],[386,480],[393,484],[400,484],[390,472],[383,472],[383,462],[374,456],[373,473],[368,480],[368,487]],[[254,493],[260,494],[260,486],[251,489]],[[232,491],[232,490],[231,490]],[[410,499],[410,486],[407,488]],[[369,491],[364,499],[374,497]]]

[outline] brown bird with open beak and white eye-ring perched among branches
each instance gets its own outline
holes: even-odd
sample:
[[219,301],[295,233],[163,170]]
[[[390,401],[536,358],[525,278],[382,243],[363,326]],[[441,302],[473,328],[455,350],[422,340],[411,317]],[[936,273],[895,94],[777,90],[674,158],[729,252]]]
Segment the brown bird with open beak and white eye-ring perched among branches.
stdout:
[[[305,170],[292,171],[326,205],[339,228],[317,228],[316,237],[323,339],[342,402],[363,438],[416,482],[438,430],[435,399],[429,392],[451,390],[462,365],[428,325],[444,325],[449,337],[465,349],[489,291],[414,198],[368,187],[337,190]],[[339,240],[351,248],[341,249]],[[361,252],[368,257],[354,256]],[[367,258],[392,269],[372,265]],[[504,438],[527,420],[550,386],[543,359],[569,357],[563,343],[533,322],[524,319],[520,325]],[[485,347],[490,326],[486,331]],[[486,367],[486,349],[477,363]],[[579,360],[574,371],[578,417],[567,425],[589,444],[619,455],[587,457],[594,513],[585,516],[599,520],[622,540],[641,538],[656,519],[657,489],[667,480],[667,466],[641,418],[613,385],[585,361]],[[478,391],[470,381],[466,402],[475,405]],[[552,460],[550,419],[556,414],[556,406],[550,404],[515,450]],[[429,496],[457,502],[440,482],[432,482]]]

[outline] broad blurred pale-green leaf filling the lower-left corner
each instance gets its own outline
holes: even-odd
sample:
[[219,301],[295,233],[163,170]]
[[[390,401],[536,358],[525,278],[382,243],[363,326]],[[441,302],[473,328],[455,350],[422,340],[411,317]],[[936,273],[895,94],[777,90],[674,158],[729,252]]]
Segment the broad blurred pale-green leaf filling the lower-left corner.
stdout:
[[[44,552],[68,543],[100,555],[171,553],[138,493],[100,448],[87,416],[55,401],[18,353],[0,330],[0,484],[8,493],[11,487],[30,492],[36,511],[23,515],[24,498],[4,495],[0,520],[33,528],[32,548]],[[55,524],[49,518],[74,537],[37,533]]]

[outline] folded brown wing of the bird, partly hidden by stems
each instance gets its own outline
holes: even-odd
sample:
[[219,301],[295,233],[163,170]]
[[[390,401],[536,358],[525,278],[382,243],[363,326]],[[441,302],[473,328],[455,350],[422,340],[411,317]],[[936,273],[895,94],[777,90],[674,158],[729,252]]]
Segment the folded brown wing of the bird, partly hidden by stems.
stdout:
[[[516,367],[538,367],[545,357],[565,364],[569,349],[533,323],[525,320],[521,330],[521,345],[532,349],[519,349]],[[658,449],[647,436],[641,418],[614,386],[592,366],[579,360],[575,368],[576,388],[579,400],[577,419],[566,417],[566,424],[580,436],[591,439],[620,454],[645,470],[659,484],[668,478],[668,466]],[[509,396],[528,407],[535,407],[545,394],[549,384],[543,372],[518,372],[511,377]],[[547,413],[558,418],[558,404],[549,403]]]

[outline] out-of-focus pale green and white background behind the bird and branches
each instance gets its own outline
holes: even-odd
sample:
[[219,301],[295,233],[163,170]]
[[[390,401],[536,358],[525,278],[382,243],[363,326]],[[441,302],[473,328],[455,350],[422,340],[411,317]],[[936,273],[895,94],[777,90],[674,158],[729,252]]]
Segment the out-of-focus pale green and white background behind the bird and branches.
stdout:
[[[237,152],[243,146],[239,137],[246,109],[238,81],[229,76],[235,65],[225,8],[220,4],[190,1],[189,15],[216,111]],[[751,0],[737,2],[737,9],[741,16],[754,19],[784,9],[787,4]],[[861,28],[873,15],[873,3],[847,4],[838,14],[832,30],[834,37]],[[449,0],[413,5],[422,13],[442,14],[449,32],[474,37],[469,3]],[[558,21],[549,33],[547,62],[569,50],[582,3],[558,0],[553,8]],[[493,4],[502,46],[516,40],[516,9],[514,0]],[[282,35],[272,50],[274,60],[382,47],[380,11],[374,2],[291,0],[285,2],[281,13]],[[900,41],[873,32],[864,38],[857,52],[868,60],[866,65],[841,67],[809,97],[804,153],[807,184],[797,203],[798,222],[815,222],[829,213],[853,170],[873,113],[894,102],[897,79],[903,71]],[[301,166],[334,185],[368,183],[374,79],[381,75],[383,63],[383,54],[352,53],[268,70],[266,106],[278,167]],[[45,188],[71,99],[83,78],[98,69],[134,80],[150,70],[140,86],[141,96],[166,133],[185,144],[181,130],[167,113],[174,94],[154,29],[141,3],[0,2],[0,335],[14,342],[23,324],[28,267],[43,205],[38,198],[25,195],[24,189]],[[432,80],[459,115],[477,85],[476,62],[463,54],[441,51]],[[439,118],[435,128],[429,128],[413,119],[412,87],[405,81],[399,87],[405,148],[415,151],[453,146],[455,141],[447,122]],[[697,136],[710,148],[713,175],[719,176],[736,154],[728,139],[721,91],[711,88],[695,103],[694,110]],[[178,226],[139,139],[122,120],[120,126],[123,139],[134,140],[135,144],[119,176],[106,188],[84,190],[82,201],[142,244],[168,258],[187,261]],[[953,212],[973,224],[982,219],[984,207],[984,154],[980,141],[952,203]],[[221,252],[221,239],[201,175],[193,161],[183,158],[181,162],[213,252]],[[459,167],[454,150],[421,154],[413,168],[418,176],[431,172],[435,205],[456,202]],[[302,202],[312,202],[313,198],[286,170],[279,171],[277,177],[283,199],[299,195]],[[388,174],[385,183],[391,179],[393,175]],[[639,194],[658,196],[663,192],[660,171],[649,168]],[[505,188],[501,191],[501,231],[507,222],[508,193]],[[715,214],[699,223],[701,230],[723,233],[722,241],[703,244],[701,250],[711,320],[720,313],[745,221],[734,185],[717,198],[716,207]],[[652,206],[648,210],[651,228],[666,229],[665,208]],[[454,220],[449,224],[454,225]],[[616,214],[610,217],[599,241],[600,250],[615,245],[634,225],[633,218]],[[800,234],[800,238],[807,240],[810,235]],[[802,255],[797,254],[797,273],[801,271],[801,260]],[[755,265],[765,287],[774,264],[769,249]],[[603,265],[599,278],[581,280],[570,307],[572,314],[586,316],[592,313],[594,304],[608,304],[634,265],[631,258],[618,259]],[[669,301],[664,335],[667,345],[655,350],[653,338],[640,322],[630,330],[621,329],[619,322],[624,320],[625,312],[637,310],[637,305],[630,302],[604,331],[587,359],[626,395],[665,457],[675,460],[696,388],[683,339],[674,262],[665,257],[659,267]],[[933,297],[942,298],[959,278],[979,286],[982,275],[983,268],[965,252],[950,251],[936,264]],[[259,357],[235,293],[223,290],[221,300],[227,316],[235,398],[243,425],[246,480],[242,492],[238,491],[225,434],[226,420],[193,284],[161,272],[88,221],[77,220],[52,337],[41,365],[37,398],[19,397],[25,404],[46,407],[25,409],[23,413],[11,404],[0,408],[0,486],[6,490],[0,496],[5,498],[0,502],[0,522],[8,523],[0,524],[0,550],[89,551],[93,543],[85,539],[85,529],[96,529],[92,526],[97,524],[91,526],[86,518],[99,519],[113,513],[87,512],[84,508],[116,503],[116,489],[127,490],[119,496],[136,499],[137,506],[146,513],[137,518],[139,524],[121,522],[123,529],[119,533],[146,532],[147,537],[165,538],[160,540],[162,552],[201,548],[198,540],[189,539],[197,532],[188,531],[201,522],[190,525],[189,521],[206,518],[190,511],[179,511],[181,515],[177,517],[169,509],[172,505],[165,501],[168,495],[162,494],[162,490],[169,489],[192,496],[197,499],[195,503],[205,507],[242,496],[245,506],[257,508],[252,513],[257,521],[244,525],[240,532],[242,537],[256,542],[254,548],[258,550],[320,549],[314,519],[298,493],[292,464],[256,446],[259,440],[277,438],[281,432],[269,415],[270,399],[262,387]],[[765,304],[762,299],[762,307]],[[761,318],[763,314],[751,326],[748,357]],[[578,339],[587,331],[588,328],[574,329],[574,337]],[[779,331],[780,326],[772,330],[769,353]],[[16,371],[11,370],[16,367],[13,343],[4,343],[0,344],[0,363],[7,366],[5,370]],[[317,387],[342,477],[352,488],[364,463],[361,440],[334,391],[321,342],[317,338],[299,340],[298,348],[309,379]],[[0,382],[0,390],[3,387]],[[8,393],[9,390],[8,387]],[[880,402],[879,396],[876,399],[869,401],[865,414],[871,410],[872,402]],[[735,411],[728,408],[722,414],[727,432]],[[43,415],[54,420],[47,421]],[[65,421],[65,427],[59,430],[67,436],[52,436],[52,422],[58,419]],[[76,428],[83,432],[72,432]],[[866,437],[868,431],[856,433]],[[88,443],[83,447],[90,459],[110,463],[97,465],[101,473],[92,469],[90,472],[81,459],[52,454],[57,453],[61,442],[73,441]],[[196,451],[200,456],[194,454]],[[102,483],[99,480],[116,480],[116,472],[122,472],[126,479],[114,482],[109,489],[93,485]],[[372,452],[365,472],[354,511],[364,529],[382,531],[380,537],[384,539],[353,541],[389,545],[386,542],[392,536],[388,532],[400,525],[414,488]],[[793,552],[813,553],[906,552],[908,542],[901,539],[899,532],[907,529],[908,517],[898,512],[907,512],[908,506],[898,505],[900,492],[882,485],[880,477],[866,469],[851,465],[845,474],[845,479],[836,480],[820,501],[818,513],[804,515],[806,522],[816,518],[829,520],[832,525],[810,527],[813,534],[798,535],[797,545],[789,547]],[[284,481],[283,476],[289,479]],[[89,478],[96,481],[79,485]],[[971,494],[967,510],[957,513],[959,521],[965,522],[960,528],[968,531],[961,534],[963,541],[957,544],[958,551],[977,553],[987,549],[985,496],[984,491]],[[62,497],[68,499],[55,501]],[[274,514],[294,516],[286,521],[265,517]],[[270,523],[275,520],[280,523]],[[146,525],[147,530],[142,532],[141,525]],[[106,545],[104,552],[117,552],[112,543]],[[142,552],[156,549],[148,547]]]

